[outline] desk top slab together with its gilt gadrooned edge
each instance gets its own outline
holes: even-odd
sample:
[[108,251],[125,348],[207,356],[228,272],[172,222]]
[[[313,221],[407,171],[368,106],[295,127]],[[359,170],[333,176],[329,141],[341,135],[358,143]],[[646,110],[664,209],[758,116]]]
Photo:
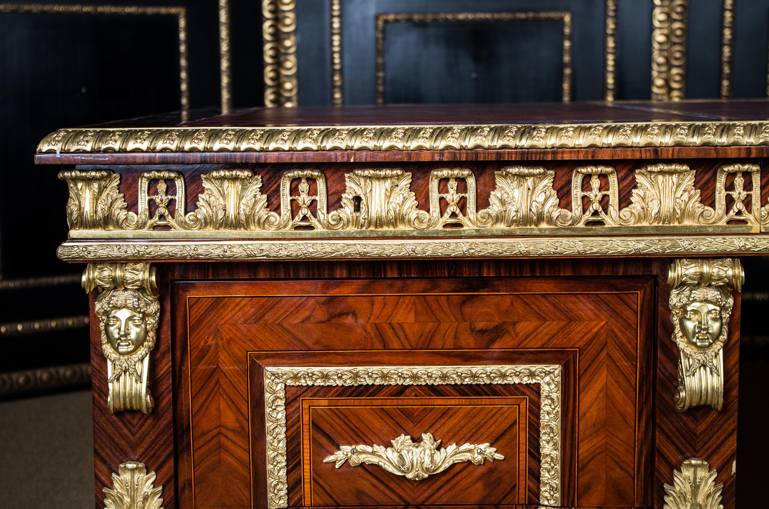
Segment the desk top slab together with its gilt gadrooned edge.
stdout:
[[[722,157],[724,148],[729,148],[732,156],[764,157],[769,154],[769,101],[249,108],[227,115],[208,108],[59,129],[40,142],[35,160],[48,164],[267,162],[297,157],[341,161],[353,160],[355,154],[361,161],[361,157],[391,160],[393,151],[431,160],[452,157],[449,151],[465,159],[487,151],[493,152],[489,157],[510,159],[517,157],[510,152],[531,157],[541,149],[558,149],[559,155],[549,157],[559,158],[576,153],[560,149],[611,149],[611,154],[591,157],[615,157],[615,152],[631,148],[633,153],[626,156],[638,157],[636,148],[642,152],[669,148],[676,154],[655,156],[698,157],[702,148],[711,152],[719,148],[711,157]],[[738,148],[752,151],[737,154]]]

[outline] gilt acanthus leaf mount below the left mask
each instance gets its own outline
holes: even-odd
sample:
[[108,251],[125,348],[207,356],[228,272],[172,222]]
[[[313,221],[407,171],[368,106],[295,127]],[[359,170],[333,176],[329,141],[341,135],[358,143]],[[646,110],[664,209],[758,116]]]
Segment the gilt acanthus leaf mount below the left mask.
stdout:
[[113,489],[102,488],[105,509],[163,509],[163,487],[155,487],[155,472],[147,473],[145,464],[127,461],[112,473]]

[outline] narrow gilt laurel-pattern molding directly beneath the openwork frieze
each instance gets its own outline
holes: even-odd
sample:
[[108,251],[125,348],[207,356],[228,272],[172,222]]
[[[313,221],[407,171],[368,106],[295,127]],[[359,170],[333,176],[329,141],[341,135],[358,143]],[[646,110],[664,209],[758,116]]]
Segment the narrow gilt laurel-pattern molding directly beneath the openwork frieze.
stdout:
[[338,258],[521,258],[749,255],[769,252],[769,235],[656,235],[241,241],[67,241],[64,261],[307,260]]

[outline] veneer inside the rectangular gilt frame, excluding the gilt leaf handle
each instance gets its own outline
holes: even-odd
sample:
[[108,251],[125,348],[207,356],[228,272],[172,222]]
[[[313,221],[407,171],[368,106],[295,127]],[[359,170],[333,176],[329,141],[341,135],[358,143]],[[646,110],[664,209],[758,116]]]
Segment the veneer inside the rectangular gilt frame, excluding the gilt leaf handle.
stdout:
[[[457,397],[455,394],[488,391],[464,386],[314,389],[295,388],[287,394],[288,443],[301,444],[301,454],[297,454],[297,447],[288,450],[291,507],[397,505],[404,500],[412,504],[522,504],[527,501],[528,468],[536,471],[531,500],[539,490],[539,398],[538,391],[528,386],[504,388],[524,396],[491,398]],[[505,392],[504,389],[491,388],[488,392]],[[309,392],[325,394],[327,398],[311,398]],[[328,398],[333,393],[338,396]],[[352,393],[367,395],[351,398],[348,394]],[[394,397],[370,395],[382,393]],[[430,394],[440,397],[431,398]],[[297,415],[299,412],[293,407],[300,403],[301,415]],[[420,441],[423,433],[441,440],[441,447],[490,443],[504,455],[504,460],[486,461],[483,465],[455,464],[418,483],[376,465],[345,464],[337,469],[333,463],[322,462],[343,444],[390,447],[390,441],[401,434]],[[295,478],[297,474],[301,474],[301,479]],[[378,489],[372,491],[371,486]]]

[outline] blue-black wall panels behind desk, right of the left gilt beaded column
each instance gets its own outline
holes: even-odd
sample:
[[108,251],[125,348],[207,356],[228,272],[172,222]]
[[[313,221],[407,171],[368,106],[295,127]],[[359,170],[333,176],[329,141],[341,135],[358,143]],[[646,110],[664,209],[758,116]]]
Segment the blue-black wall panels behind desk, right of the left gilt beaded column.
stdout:
[[[651,0],[619,0],[618,100],[648,99]],[[766,96],[769,0],[736,2],[734,98]],[[572,13],[575,101],[603,98],[604,0],[341,0],[345,104],[376,98],[375,18],[385,12]],[[299,103],[331,104],[330,9],[297,0]],[[691,0],[687,97],[720,91],[722,0]],[[385,28],[386,102],[561,100],[561,23],[397,23]]]

